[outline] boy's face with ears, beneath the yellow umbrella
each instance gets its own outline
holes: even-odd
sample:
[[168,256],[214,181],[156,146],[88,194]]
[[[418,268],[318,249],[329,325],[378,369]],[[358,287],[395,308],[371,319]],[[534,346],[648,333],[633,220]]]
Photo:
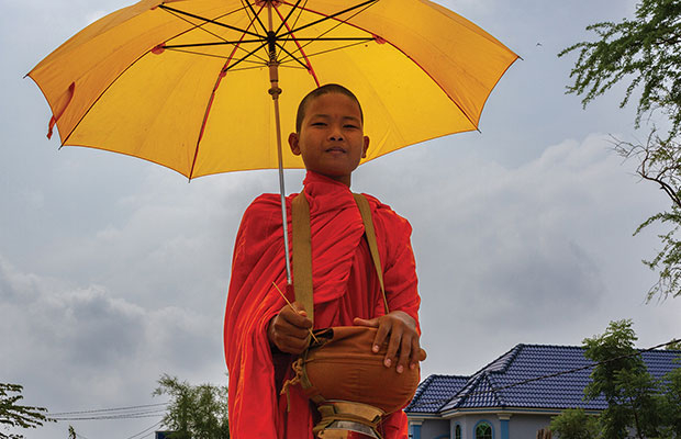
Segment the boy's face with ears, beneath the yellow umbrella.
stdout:
[[369,137],[357,103],[332,92],[308,103],[300,133],[289,135],[289,145],[302,155],[308,170],[350,185],[350,175],[367,156]]

